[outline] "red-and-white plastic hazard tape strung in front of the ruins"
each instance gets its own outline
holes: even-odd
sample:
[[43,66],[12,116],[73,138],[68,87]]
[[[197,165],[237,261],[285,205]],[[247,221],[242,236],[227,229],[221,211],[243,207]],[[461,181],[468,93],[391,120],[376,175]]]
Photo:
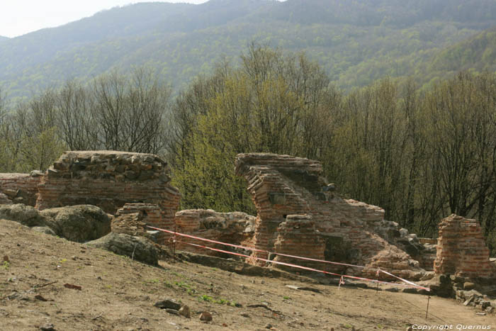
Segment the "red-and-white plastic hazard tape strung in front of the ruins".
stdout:
[[[164,230],[164,229],[161,229],[161,228],[155,228],[155,227],[152,227],[150,225],[147,225],[147,228],[151,228],[151,229],[154,229],[154,230],[159,230],[159,231],[171,233],[172,235],[179,235],[181,237],[188,237],[188,238],[191,238],[191,239],[201,240],[201,241],[205,241],[205,242],[212,242],[212,243],[215,243],[215,244],[220,244],[220,245],[225,245],[225,246],[230,246],[230,247],[235,247],[235,248],[240,248],[240,249],[251,250],[251,251],[254,251],[254,252],[263,252],[263,253],[268,253],[268,254],[276,254],[276,255],[283,256],[283,257],[293,257],[293,258],[297,258],[297,259],[305,259],[305,260],[314,261],[314,262],[328,262],[328,263],[332,263],[332,264],[339,264],[339,265],[345,265],[345,266],[350,266],[350,267],[366,268],[366,267],[363,267],[363,266],[356,266],[354,264],[344,264],[344,263],[339,263],[339,262],[330,262],[330,261],[325,261],[325,260],[320,260],[320,259],[311,259],[309,257],[296,257],[296,256],[293,256],[293,255],[281,254],[281,253],[271,253],[271,252],[264,251],[262,249],[256,249],[256,248],[252,248],[252,247],[244,247],[244,246],[241,246],[241,245],[229,244],[227,242],[219,242],[217,240],[211,240],[211,239],[206,239],[206,238],[202,238],[202,237],[196,237],[196,236],[193,236],[193,235],[186,235],[186,234],[180,233],[180,232],[174,232],[174,231],[170,231],[170,230]],[[201,247],[201,248],[204,248],[204,249],[210,249],[210,250],[215,251],[215,252],[221,252],[221,253],[225,253],[225,254],[236,255],[236,256],[239,256],[239,257],[245,257],[245,258],[249,258],[249,259],[257,259],[259,261],[269,262],[269,263],[272,263],[272,264],[280,264],[280,265],[283,265],[283,266],[286,266],[286,267],[293,267],[293,268],[298,268],[298,269],[303,269],[303,270],[308,270],[308,271],[315,271],[315,272],[320,272],[322,274],[329,274],[329,275],[333,275],[333,276],[339,276],[339,277],[344,277],[344,278],[349,278],[349,279],[356,279],[356,280],[360,280],[360,281],[370,281],[370,282],[376,283],[376,284],[388,284],[388,285],[394,285],[394,286],[404,286],[404,287],[419,288],[419,289],[422,289],[422,290],[430,291],[430,288],[427,288],[427,287],[424,287],[424,286],[419,286],[419,285],[413,283],[412,281],[407,281],[406,279],[402,279],[402,278],[400,278],[398,276],[395,276],[393,274],[390,274],[388,271],[384,271],[383,269],[378,269],[378,272],[379,271],[382,271],[385,274],[388,274],[390,276],[395,277],[396,279],[399,279],[399,280],[405,282],[405,284],[396,284],[396,283],[390,283],[388,281],[379,281],[378,279],[368,279],[368,278],[363,278],[363,277],[358,277],[358,276],[349,276],[349,275],[343,275],[343,274],[336,274],[336,273],[330,272],[330,271],[324,271],[324,270],[314,269],[314,268],[310,268],[310,267],[303,267],[303,266],[300,266],[298,264],[291,264],[291,263],[286,263],[286,262],[274,261],[274,260],[270,260],[270,259],[264,259],[264,258],[261,258],[261,257],[252,257],[252,256],[249,256],[249,255],[241,254],[241,253],[237,253],[237,252],[229,252],[229,251],[226,251],[224,249],[218,249],[218,248],[213,248],[213,247],[208,247],[208,246],[193,244],[192,242],[182,242],[182,241],[179,241],[179,240],[174,240],[174,241],[175,242],[179,242],[181,244],[190,245],[190,246],[193,246],[193,247]]]

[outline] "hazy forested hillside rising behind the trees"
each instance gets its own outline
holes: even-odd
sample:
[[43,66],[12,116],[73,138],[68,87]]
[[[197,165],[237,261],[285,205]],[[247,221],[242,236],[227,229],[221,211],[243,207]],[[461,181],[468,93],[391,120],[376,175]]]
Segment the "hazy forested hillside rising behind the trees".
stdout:
[[[463,60],[446,57],[448,47],[463,40],[472,47],[470,37],[494,26],[494,0],[135,4],[4,40],[0,86],[15,99],[68,78],[89,82],[113,67],[146,64],[179,91],[197,74],[212,72],[223,55],[237,61],[253,40],[290,52],[304,50],[344,89],[386,75],[416,74],[424,84],[447,77]],[[487,51],[463,62],[464,68],[492,65],[496,45],[490,31],[486,35]]]

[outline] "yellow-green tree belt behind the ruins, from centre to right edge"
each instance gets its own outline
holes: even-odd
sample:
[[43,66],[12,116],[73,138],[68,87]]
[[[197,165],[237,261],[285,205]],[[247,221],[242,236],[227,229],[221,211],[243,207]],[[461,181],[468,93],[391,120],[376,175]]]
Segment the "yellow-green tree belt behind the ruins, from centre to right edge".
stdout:
[[242,63],[193,84],[172,109],[183,208],[252,213],[235,155],[290,154],[319,159],[340,193],[419,235],[436,235],[450,213],[477,218],[496,249],[495,74],[461,73],[422,94],[412,80],[383,79],[344,96],[304,55],[252,45]]

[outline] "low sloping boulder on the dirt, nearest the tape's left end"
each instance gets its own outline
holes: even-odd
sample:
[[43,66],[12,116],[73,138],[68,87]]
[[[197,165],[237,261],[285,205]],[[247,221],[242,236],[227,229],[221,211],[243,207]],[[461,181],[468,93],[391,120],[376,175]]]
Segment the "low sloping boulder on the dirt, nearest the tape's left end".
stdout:
[[105,237],[86,242],[86,245],[107,249],[115,254],[125,255],[146,264],[154,266],[159,264],[159,250],[153,242],[144,237],[111,232]]

